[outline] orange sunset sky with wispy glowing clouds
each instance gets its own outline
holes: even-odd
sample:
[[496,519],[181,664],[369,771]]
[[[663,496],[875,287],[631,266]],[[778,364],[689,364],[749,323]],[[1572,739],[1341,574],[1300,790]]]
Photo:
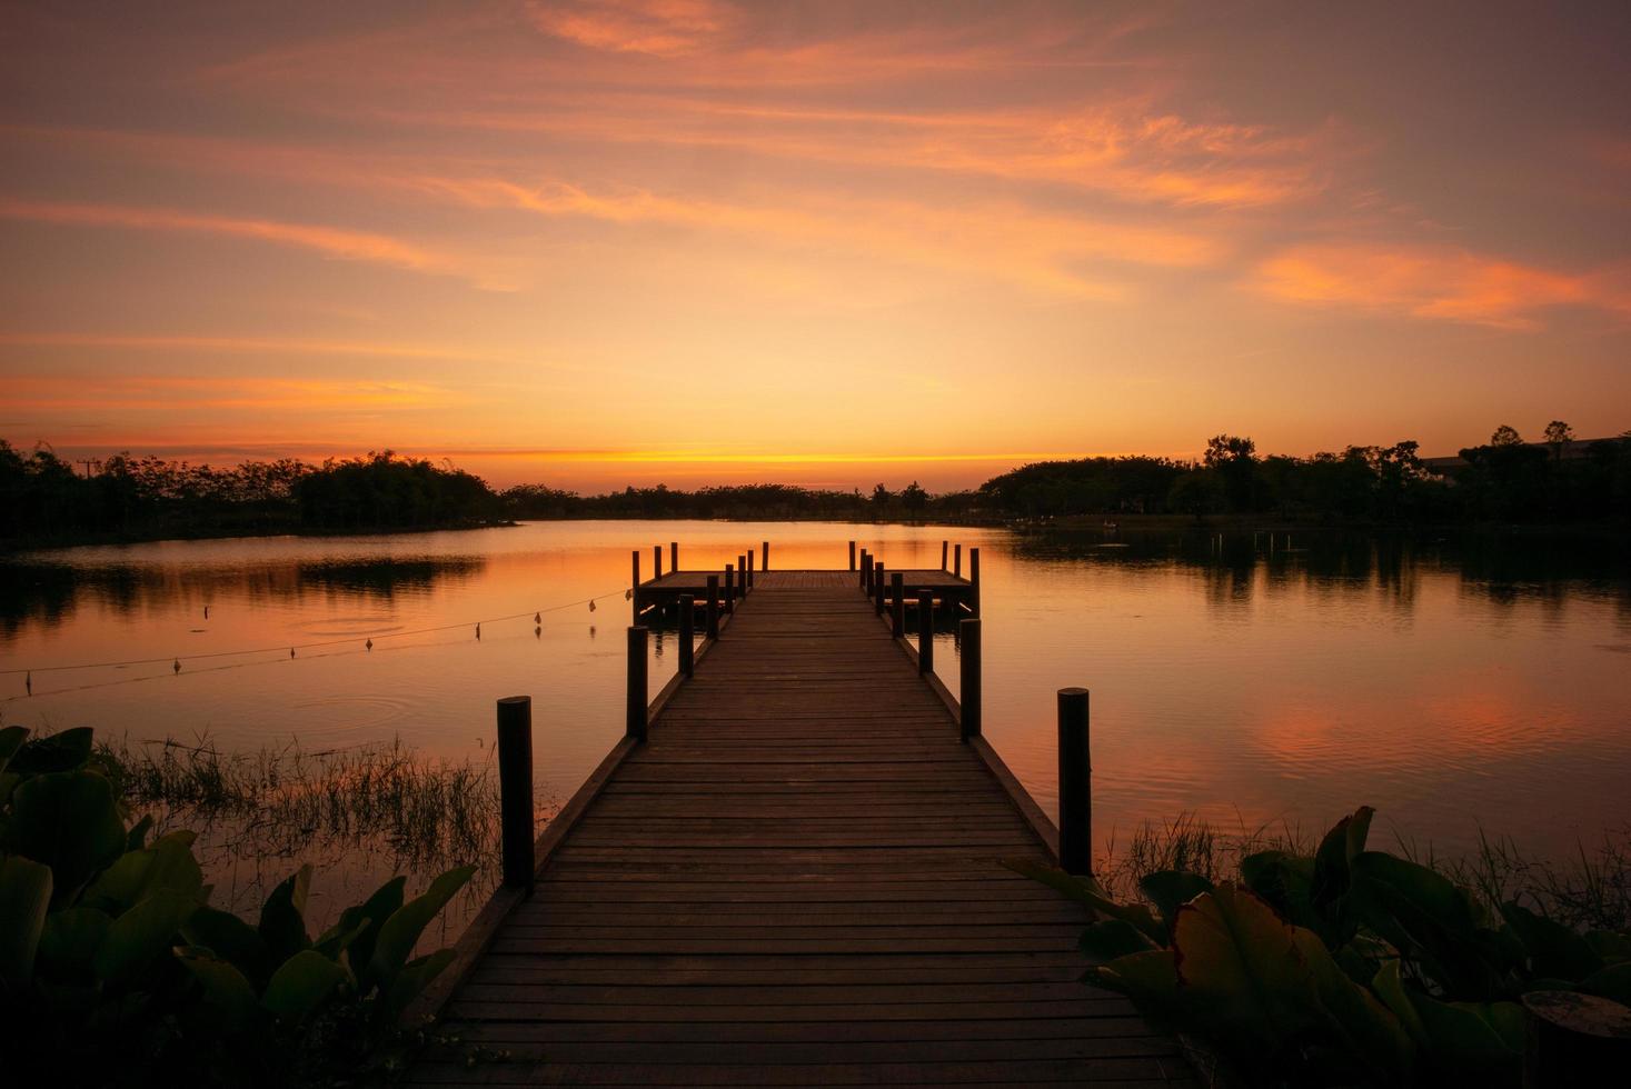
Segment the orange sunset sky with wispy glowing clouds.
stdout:
[[7,3],[0,437],[496,484],[1631,427],[1626,3]]

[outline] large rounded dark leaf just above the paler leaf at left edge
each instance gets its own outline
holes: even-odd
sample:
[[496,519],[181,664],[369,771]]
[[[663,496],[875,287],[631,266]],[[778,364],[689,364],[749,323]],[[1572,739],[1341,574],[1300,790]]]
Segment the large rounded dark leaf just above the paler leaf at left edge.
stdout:
[[24,779],[11,799],[7,836],[11,851],[51,867],[55,905],[67,903],[96,871],[113,864],[126,840],[113,786],[91,771]]

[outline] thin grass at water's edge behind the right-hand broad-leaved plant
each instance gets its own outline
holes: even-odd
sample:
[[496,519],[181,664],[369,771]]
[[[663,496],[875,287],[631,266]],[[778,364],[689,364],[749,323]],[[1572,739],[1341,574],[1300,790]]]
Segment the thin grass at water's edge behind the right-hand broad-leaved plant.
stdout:
[[[1308,856],[1318,844],[1318,835],[1288,822],[1248,827],[1240,820],[1231,830],[1184,812],[1166,822],[1145,822],[1125,844],[1112,836],[1094,877],[1112,898],[1129,900],[1140,897],[1138,879],[1155,871],[1236,880],[1240,861],[1248,854]],[[1414,841],[1401,841],[1399,854],[1471,888],[1491,908],[1515,900],[1577,929],[1631,928],[1631,827],[1605,831],[1593,846],[1576,843],[1566,859],[1533,858],[1512,836],[1491,836],[1483,828],[1471,854],[1440,856],[1430,843]]]

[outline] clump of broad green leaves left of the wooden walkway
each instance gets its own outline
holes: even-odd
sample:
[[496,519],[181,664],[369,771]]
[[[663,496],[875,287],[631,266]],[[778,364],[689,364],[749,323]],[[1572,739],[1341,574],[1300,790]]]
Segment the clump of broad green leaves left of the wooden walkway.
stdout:
[[254,924],[210,905],[191,831],[152,836],[88,729],[0,730],[0,1011],[18,1084],[289,1086],[383,1073],[408,1004],[452,960],[414,957],[470,880],[404,879],[307,928],[312,867]]

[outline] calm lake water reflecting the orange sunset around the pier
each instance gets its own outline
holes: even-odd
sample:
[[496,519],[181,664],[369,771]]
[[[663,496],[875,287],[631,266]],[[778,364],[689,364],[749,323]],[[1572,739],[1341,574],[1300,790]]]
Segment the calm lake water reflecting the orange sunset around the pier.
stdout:
[[[1535,543],[561,522],[64,549],[0,567],[0,717],[484,761],[494,698],[528,693],[548,809],[621,732],[631,548],[648,574],[670,540],[687,569],[762,540],[775,567],[837,567],[855,536],[935,567],[948,535],[982,549],[987,735],[1045,809],[1054,691],[1093,690],[1101,844],[1184,810],[1318,830],[1370,804],[1383,835],[1440,851],[1483,823],[1551,854],[1631,823],[1626,558]],[[54,668],[82,664],[106,665]],[[674,664],[659,634],[652,691]],[[354,884],[395,866],[341,862]],[[292,866],[217,859],[215,877],[253,890]]]

